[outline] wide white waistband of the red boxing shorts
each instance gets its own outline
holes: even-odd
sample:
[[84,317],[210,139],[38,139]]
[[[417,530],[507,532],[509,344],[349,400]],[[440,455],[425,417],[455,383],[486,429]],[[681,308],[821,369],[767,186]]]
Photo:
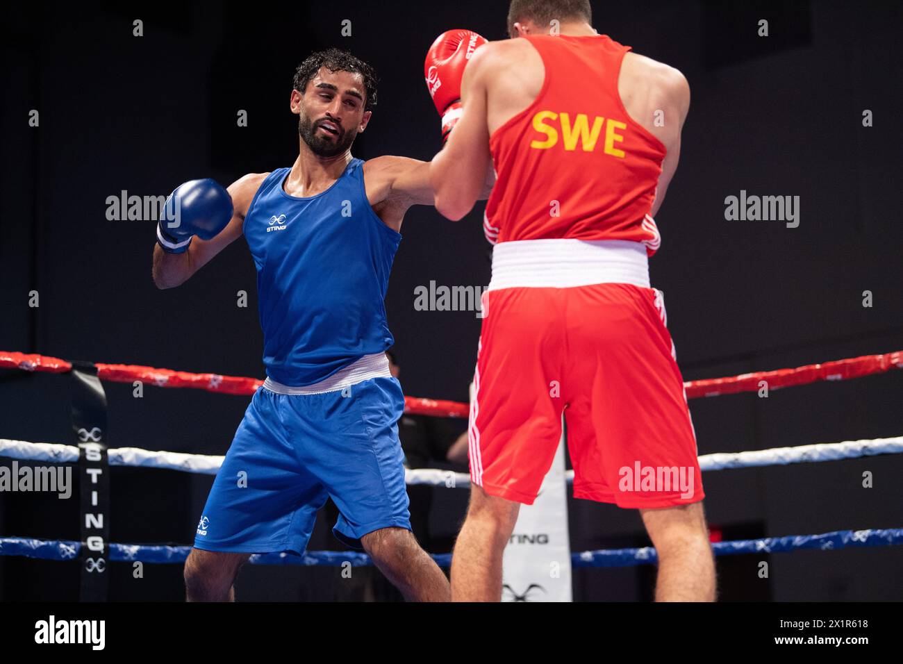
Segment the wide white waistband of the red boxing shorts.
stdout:
[[488,291],[592,284],[648,288],[646,246],[622,239],[564,238],[500,242],[492,248]]

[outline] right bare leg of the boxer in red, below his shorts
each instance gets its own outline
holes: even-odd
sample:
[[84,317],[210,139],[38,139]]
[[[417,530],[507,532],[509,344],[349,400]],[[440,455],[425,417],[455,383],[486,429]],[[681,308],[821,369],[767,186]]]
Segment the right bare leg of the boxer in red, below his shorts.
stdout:
[[658,553],[656,602],[714,602],[715,561],[702,500],[639,513]]

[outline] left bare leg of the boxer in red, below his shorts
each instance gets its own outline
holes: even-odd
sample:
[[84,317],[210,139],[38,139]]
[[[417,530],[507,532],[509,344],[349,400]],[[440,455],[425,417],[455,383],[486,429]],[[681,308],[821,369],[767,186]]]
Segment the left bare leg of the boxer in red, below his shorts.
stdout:
[[470,488],[470,507],[452,555],[452,602],[500,602],[502,554],[517,523],[519,502]]

